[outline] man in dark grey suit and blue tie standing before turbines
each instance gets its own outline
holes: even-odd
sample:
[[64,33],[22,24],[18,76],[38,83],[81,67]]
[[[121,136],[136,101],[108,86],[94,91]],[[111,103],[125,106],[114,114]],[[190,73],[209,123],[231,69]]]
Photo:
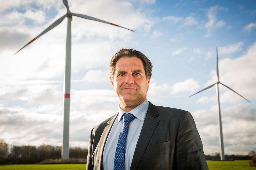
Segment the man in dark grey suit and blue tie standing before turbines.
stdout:
[[112,57],[119,111],[92,129],[86,169],[208,169],[192,115],[147,100],[151,71],[140,51],[122,48]]

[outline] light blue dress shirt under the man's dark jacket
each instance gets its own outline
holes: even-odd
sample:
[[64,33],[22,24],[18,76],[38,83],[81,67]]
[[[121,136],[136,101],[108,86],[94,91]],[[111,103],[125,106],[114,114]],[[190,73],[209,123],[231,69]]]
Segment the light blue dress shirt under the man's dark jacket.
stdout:
[[[137,145],[140,132],[146,117],[148,106],[149,106],[148,100],[146,99],[139,106],[135,107],[130,112],[128,112],[130,114],[133,114],[136,118],[129,123],[128,134],[127,134],[126,145],[125,145],[125,157],[124,157],[125,170],[130,169],[133,154],[134,154],[135,147]],[[119,106],[118,116],[116,117],[113,127],[110,130],[110,133],[108,135],[108,139],[103,151],[102,167],[104,170],[114,169],[116,145],[118,143],[118,137],[120,135],[120,132],[124,123],[122,116],[128,113],[123,111]]]

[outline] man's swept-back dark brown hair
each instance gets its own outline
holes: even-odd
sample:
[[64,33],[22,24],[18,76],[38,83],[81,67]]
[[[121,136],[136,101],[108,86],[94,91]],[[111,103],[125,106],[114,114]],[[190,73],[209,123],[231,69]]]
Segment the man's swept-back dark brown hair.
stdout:
[[137,58],[139,58],[143,63],[143,68],[145,70],[146,78],[150,79],[150,77],[152,75],[151,72],[152,72],[153,65],[151,64],[148,57],[145,56],[142,52],[137,51],[133,48],[122,48],[119,51],[117,51],[116,54],[114,54],[112,59],[110,60],[109,77],[108,77],[110,82],[114,81],[114,76],[115,76],[115,72],[116,72],[116,62],[122,57],[127,57],[127,58],[137,57]]

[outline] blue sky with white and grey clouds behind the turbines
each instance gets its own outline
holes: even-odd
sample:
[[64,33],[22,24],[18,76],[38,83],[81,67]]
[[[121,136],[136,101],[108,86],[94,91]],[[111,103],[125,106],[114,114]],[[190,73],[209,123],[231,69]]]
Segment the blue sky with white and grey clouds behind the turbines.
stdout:
[[[134,30],[72,17],[69,146],[87,148],[91,129],[118,112],[108,64],[135,48],[153,64],[147,93],[157,106],[189,111],[205,154],[220,152],[219,80],[225,154],[256,150],[256,1],[68,0],[71,12]],[[0,139],[61,146],[67,18],[61,0],[2,1]],[[14,55],[15,54],[15,55]]]

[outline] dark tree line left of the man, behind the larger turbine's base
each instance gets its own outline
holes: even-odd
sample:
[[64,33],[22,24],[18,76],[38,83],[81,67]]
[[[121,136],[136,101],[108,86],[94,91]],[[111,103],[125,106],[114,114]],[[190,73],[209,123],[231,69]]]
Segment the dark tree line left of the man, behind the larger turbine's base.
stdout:
[[[87,149],[69,148],[69,158],[86,159]],[[42,144],[39,147],[22,145],[15,146],[0,139],[0,164],[31,164],[40,163],[46,159],[60,159],[61,146]]]

